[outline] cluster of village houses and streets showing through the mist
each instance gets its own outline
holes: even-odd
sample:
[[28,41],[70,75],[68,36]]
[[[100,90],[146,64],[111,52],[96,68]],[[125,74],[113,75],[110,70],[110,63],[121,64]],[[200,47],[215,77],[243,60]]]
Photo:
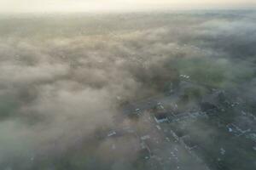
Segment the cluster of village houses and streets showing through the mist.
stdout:
[[[181,82],[186,87],[189,83]],[[140,146],[134,151],[139,155],[138,162],[143,162],[148,169],[234,169],[230,154],[236,152],[238,156],[241,150],[247,150],[255,155],[256,117],[243,111],[245,104],[241,99],[212,89],[199,103],[180,109],[183,92],[175,91],[172,90],[171,95],[125,105],[125,119],[131,120],[132,125],[112,129],[107,138],[130,135],[137,139]],[[233,111],[237,119],[230,120],[229,114]],[[236,144],[241,143],[244,144],[241,150],[234,151]],[[111,150],[119,150],[119,147],[122,146],[113,142]],[[237,161],[247,160],[237,157]]]

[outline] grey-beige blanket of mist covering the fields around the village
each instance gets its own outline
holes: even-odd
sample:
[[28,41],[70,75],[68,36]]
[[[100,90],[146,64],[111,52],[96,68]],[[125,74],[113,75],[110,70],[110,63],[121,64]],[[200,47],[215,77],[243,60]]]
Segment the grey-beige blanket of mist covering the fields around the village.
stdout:
[[[168,94],[170,84],[183,89],[180,75],[199,84],[189,105],[214,88],[239,96],[255,116],[255,20],[238,10],[1,16],[0,169],[154,169],[138,165],[138,139],[102,136],[133,123],[150,129],[115,117],[123,105]],[[189,132],[207,146],[218,135],[204,122]],[[203,169],[180,156],[182,169]],[[253,156],[237,169],[253,170]]]

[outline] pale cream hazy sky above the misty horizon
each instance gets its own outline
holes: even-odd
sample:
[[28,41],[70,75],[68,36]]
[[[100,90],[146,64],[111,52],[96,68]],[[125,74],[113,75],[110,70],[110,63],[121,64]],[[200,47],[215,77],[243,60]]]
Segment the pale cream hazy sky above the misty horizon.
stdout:
[[0,12],[104,12],[143,9],[252,8],[256,0],[0,0]]

